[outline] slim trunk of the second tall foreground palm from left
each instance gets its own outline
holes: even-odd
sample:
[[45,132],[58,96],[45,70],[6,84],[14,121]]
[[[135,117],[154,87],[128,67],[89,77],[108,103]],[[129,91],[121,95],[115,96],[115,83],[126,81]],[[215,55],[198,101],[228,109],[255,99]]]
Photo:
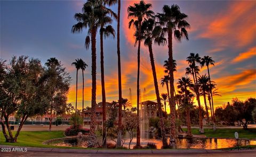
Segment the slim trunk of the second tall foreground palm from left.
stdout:
[[[103,25],[101,25],[103,29]],[[104,79],[104,54],[103,54],[103,31],[100,32],[100,73],[101,73],[101,94],[102,94],[102,147],[107,148],[106,138],[106,92]]]

